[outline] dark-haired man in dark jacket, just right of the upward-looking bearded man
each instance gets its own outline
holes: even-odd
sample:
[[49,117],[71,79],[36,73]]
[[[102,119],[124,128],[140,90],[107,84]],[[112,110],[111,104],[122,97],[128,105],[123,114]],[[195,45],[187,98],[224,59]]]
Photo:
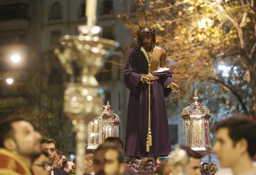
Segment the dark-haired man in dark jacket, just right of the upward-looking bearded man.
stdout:
[[[45,138],[41,140],[41,149],[43,151],[48,152],[49,160],[53,163],[54,158],[55,158],[55,153],[56,153],[56,142],[54,139],[51,138]],[[62,169],[59,169],[57,167],[52,167],[51,175],[65,175],[67,172],[65,172]]]

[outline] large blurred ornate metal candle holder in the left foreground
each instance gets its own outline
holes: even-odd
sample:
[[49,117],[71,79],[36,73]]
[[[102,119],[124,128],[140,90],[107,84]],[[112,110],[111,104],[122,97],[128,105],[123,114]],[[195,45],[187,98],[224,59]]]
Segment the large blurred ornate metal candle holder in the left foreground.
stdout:
[[55,49],[72,82],[66,84],[64,112],[72,120],[76,132],[76,174],[84,174],[84,151],[87,125],[101,113],[103,95],[98,93],[95,74],[102,66],[107,50],[118,46],[112,40],[99,37],[98,26],[81,25],[78,36],[61,37],[63,50]]

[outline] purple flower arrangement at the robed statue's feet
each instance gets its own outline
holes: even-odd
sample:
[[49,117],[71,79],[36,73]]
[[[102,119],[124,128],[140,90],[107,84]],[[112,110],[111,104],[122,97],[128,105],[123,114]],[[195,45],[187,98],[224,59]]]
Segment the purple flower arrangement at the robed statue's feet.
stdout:
[[161,165],[161,163],[158,163],[151,158],[127,158],[124,161],[139,175],[156,175],[158,174]]

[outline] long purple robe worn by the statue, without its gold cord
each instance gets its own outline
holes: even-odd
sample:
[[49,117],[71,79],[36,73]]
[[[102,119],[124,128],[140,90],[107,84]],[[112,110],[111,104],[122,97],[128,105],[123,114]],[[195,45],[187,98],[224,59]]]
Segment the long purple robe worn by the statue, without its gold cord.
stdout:
[[173,82],[171,72],[152,73],[160,77],[151,85],[152,146],[146,152],[148,133],[148,84],[141,82],[140,74],[148,74],[148,62],[144,53],[135,47],[127,55],[123,70],[124,84],[131,91],[129,97],[125,137],[125,156],[164,156],[171,151],[169,125],[165,106]]

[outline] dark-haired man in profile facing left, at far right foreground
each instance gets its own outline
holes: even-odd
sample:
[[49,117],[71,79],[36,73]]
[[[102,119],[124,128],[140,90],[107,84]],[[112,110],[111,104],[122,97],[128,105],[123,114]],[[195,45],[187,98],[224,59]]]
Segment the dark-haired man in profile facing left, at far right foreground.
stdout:
[[256,153],[256,121],[248,116],[232,116],[218,122],[214,128],[213,151],[220,165],[230,167],[234,175],[256,174],[252,157]]

